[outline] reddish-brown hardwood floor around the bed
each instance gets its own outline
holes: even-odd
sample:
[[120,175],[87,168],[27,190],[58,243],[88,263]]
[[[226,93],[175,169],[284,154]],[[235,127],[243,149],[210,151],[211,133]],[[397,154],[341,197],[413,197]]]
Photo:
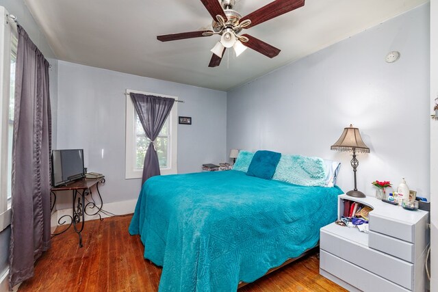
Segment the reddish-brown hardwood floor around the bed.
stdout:
[[[34,278],[18,291],[157,291],[162,269],[142,257],[140,237],[128,234],[131,217],[86,222],[83,248],[73,229],[53,237]],[[346,291],[320,276],[318,266],[314,252],[239,291]]]

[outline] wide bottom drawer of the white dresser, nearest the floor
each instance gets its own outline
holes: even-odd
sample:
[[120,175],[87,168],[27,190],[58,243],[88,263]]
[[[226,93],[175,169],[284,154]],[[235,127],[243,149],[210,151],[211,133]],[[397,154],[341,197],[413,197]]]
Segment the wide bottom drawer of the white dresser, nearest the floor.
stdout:
[[334,256],[324,250],[320,251],[320,269],[327,273],[348,281],[348,284],[365,292],[399,292],[409,291],[398,284],[372,274],[366,269],[353,265],[342,258]]

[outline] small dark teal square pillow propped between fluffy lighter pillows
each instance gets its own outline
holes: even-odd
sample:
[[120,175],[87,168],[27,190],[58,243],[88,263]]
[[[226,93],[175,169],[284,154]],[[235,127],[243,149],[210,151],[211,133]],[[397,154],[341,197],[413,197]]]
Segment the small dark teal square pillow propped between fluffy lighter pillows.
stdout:
[[279,164],[281,153],[266,150],[255,152],[253,160],[246,175],[257,176],[258,178],[271,179],[274,175],[276,165]]

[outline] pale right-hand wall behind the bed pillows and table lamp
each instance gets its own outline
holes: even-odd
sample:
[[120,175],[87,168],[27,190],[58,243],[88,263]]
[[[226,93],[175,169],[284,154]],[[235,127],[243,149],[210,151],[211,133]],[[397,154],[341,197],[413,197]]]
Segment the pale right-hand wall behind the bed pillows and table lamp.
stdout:
[[330,146],[352,123],[371,150],[358,157],[359,190],[374,196],[372,181],[406,176],[429,197],[429,49],[427,3],[242,85],[227,95],[227,148],[342,161],[348,191],[351,156]]

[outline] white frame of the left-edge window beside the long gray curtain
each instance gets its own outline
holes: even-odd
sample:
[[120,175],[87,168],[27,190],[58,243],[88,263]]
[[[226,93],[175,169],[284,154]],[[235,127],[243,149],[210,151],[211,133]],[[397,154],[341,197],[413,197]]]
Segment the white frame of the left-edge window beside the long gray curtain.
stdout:
[[8,19],[8,11],[0,6],[0,231],[11,223],[11,200],[8,200],[8,128],[10,103],[11,38],[18,39],[16,23]]

